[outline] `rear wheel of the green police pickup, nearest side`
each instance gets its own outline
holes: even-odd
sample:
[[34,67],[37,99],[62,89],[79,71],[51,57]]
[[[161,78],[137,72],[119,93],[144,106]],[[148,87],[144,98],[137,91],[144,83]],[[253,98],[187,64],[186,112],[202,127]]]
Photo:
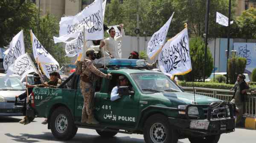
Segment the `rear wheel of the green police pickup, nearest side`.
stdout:
[[51,131],[58,140],[70,140],[76,135],[77,127],[69,110],[58,107],[50,118]]

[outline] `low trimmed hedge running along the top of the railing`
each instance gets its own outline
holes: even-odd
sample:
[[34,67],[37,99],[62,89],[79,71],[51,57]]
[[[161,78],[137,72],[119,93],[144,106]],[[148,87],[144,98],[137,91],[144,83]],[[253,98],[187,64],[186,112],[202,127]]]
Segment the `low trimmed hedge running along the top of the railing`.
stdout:
[[[184,87],[193,87],[192,82],[184,82],[179,81],[179,86]],[[232,89],[233,84],[226,84],[226,83],[214,83],[214,82],[194,82],[194,87],[202,87],[202,88],[209,88],[209,89]],[[256,85],[250,85],[250,89],[256,89]]]

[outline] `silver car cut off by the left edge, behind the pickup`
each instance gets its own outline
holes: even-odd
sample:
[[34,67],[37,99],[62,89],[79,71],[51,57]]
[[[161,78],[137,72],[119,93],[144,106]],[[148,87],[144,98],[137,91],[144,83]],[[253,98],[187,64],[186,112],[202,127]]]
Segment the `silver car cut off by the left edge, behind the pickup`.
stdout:
[[0,74],[0,116],[23,116],[23,106],[15,106],[15,96],[23,94],[25,86],[16,77],[6,79]]

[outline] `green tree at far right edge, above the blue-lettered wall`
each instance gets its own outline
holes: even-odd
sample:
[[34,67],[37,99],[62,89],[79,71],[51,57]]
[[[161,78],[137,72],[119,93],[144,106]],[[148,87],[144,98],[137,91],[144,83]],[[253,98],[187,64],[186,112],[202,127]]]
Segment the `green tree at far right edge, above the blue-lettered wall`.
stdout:
[[236,18],[239,27],[239,37],[245,39],[256,39],[256,9],[250,8],[243,11],[241,16]]

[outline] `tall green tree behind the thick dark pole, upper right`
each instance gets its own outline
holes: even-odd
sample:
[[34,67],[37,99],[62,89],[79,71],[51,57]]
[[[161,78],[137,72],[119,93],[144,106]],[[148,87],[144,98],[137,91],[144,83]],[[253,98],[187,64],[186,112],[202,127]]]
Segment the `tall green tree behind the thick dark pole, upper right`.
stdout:
[[[192,35],[202,36],[205,33],[205,13],[207,0],[173,0],[177,21],[188,23]],[[216,11],[228,16],[228,0],[211,0],[209,8],[209,36],[227,37],[227,27],[216,23]],[[232,8],[236,6],[236,0],[232,0]],[[232,9],[232,17],[235,16]],[[233,19],[231,17],[231,20]]]

